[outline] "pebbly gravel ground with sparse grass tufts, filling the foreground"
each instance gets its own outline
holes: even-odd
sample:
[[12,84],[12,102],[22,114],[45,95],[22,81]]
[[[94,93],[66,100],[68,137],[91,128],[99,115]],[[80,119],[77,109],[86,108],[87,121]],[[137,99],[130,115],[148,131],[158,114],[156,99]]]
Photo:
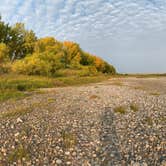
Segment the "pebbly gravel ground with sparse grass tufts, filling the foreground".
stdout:
[[166,78],[42,91],[0,104],[0,166],[166,166]]

